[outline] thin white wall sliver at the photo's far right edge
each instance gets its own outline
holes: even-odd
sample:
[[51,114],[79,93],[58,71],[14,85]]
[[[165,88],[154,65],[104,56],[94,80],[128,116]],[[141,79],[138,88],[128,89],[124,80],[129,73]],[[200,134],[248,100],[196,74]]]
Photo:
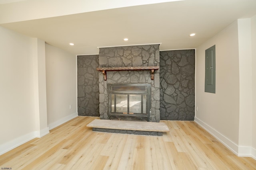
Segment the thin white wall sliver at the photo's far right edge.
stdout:
[[252,147],[256,159],[256,16],[251,18],[252,31]]

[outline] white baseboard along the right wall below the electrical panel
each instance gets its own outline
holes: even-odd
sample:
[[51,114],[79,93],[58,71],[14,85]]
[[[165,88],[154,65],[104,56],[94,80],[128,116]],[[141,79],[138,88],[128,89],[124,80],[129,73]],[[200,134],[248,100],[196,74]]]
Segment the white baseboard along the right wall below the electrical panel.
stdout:
[[200,119],[196,118],[194,121],[208,131],[211,135],[213,135],[216,139],[218,139],[223,145],[225,145],[228,149],[230,149],[234,154],[237,156],[244,156],[244,157],[252,157],[256,160],[256,149],[252,147],[243,147],[238,146],[234,142],[230,141],[227,137],[201,121]]

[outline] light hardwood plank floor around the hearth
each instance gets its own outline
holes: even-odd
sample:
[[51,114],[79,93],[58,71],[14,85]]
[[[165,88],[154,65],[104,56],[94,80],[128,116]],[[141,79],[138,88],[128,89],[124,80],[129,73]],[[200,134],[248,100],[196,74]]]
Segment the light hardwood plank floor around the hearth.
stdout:
[[255,170],[193,121],[162,121],[162,137],[93,132],[98,117],[76,117],[0,156],[12,170]]

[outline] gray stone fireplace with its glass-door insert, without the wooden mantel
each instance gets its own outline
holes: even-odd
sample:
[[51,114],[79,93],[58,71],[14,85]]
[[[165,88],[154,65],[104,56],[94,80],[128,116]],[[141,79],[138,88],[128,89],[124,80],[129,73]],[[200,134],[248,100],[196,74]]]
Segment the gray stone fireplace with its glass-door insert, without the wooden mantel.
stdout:
[[[159,63],[159,44],[106,47],[100,48],[99,52],[100,68],[148,66],[159,67]],[[134,90],[128,90],[128,92],[124,92],[124,90],[117,90],[120,87],[115,88],[114,90],[110,87],[111,85],[116,87],[127,87],[130,86],[130,84],[135,86],[143,86],[146,84],[146,87],[150,88],[150,94],[145,97],[145,94],[148,92],[144,93],[143,90],[140,90],[139,92],[134,92]],[[124,87],[121,89],[124,89]],[[100,119],[113,119],[118,116],[116,114],[121,113],[121,116],[142,116],[146,117],[147,121],[160,121],[160,79],[159,70],[157,69],[154,71],[111,70],[107,73],[103,72],[103,74],[102,72],[99,72],[99,92]],[[120,93],[118,94],[118,92]],[[130,101],[130,98],[132,101]],[[123,107],[116,106],[116,102],[119,104],[118,106],[122,105]]]

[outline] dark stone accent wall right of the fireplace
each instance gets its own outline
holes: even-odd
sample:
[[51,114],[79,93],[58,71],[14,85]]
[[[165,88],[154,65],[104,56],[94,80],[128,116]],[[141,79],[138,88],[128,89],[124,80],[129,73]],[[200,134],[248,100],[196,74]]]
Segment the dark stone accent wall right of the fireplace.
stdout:
[[160,51],[160,119],[194,120],[195,51]]

